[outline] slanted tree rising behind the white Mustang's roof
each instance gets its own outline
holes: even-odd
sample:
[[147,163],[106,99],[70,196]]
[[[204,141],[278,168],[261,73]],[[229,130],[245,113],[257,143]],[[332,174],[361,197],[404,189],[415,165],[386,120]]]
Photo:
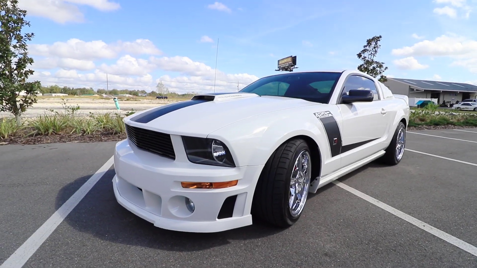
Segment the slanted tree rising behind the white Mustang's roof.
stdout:
[[376,78],[380,76],[379,81],[386,82],[387,78],[383,75],[383,73],[388,69],[388,67],[384,67],[384,62],[378,62],[374,60],[379,49],[381,48],[381,45],[379,44],[381,38],[382,36],[379,35],[366,40],[366,45],[363,46],[363,50],[357,54],[358,59],[363,61],[363,63],[358,66],[358,70]]

